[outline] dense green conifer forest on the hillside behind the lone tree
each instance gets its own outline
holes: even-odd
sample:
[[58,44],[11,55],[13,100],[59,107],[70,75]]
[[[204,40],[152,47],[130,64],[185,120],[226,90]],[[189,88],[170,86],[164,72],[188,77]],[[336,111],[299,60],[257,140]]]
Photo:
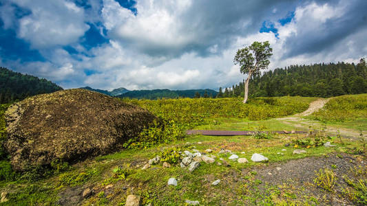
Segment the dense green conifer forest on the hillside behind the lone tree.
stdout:
[[[218,97],[242,96],[244,84],[240,82],[232,88],[220,90]],[[367,93],[367,67],[363,58],[357,65],[344,62],[291,65],[253,76],[249,83],[251,97],[300,95],[327,98],[358,93]]]

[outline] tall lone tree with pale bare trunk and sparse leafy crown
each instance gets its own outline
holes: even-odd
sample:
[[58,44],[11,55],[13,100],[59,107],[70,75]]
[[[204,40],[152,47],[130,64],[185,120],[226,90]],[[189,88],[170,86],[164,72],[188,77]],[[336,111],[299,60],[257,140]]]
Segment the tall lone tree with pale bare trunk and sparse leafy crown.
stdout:
[[247,102],[249,95],[249,81],[252,75],[259,74],[261,69],[266,69],[269,64],[269,58],[273,55],[273,49],[270,47],[269,41],[253,42],[249,47],[238,49],[233,62],[235,65],[240,65],[240,71],[243,74],[248,74],[246,82],[244,82],[244,100]]

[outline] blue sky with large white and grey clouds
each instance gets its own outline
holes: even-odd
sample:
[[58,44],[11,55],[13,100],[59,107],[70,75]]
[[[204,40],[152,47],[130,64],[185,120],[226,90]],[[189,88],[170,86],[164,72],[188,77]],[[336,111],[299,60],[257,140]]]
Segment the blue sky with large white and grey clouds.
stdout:
[[367,1],[0,0],[0,66],[61,87],[218,89],[237,49],[269,41],[269,69],[357,62]]

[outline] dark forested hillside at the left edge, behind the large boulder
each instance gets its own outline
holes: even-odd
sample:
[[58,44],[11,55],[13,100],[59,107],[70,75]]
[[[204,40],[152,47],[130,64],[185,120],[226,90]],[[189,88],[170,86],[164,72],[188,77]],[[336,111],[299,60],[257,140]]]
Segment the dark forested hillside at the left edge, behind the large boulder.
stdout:
[[0,67],[0,104],[23,100],[29,96],[41,93],[52,93],[62,89],[49,80]]

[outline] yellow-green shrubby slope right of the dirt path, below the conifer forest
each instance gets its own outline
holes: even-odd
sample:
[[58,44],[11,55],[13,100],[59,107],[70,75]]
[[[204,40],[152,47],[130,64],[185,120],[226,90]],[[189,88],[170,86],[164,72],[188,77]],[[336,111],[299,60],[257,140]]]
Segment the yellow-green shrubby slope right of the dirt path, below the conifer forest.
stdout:
[[313,113],[312,117],[322,122],[346,122],[367,118],[367,94],[333,98],[324,108]]

